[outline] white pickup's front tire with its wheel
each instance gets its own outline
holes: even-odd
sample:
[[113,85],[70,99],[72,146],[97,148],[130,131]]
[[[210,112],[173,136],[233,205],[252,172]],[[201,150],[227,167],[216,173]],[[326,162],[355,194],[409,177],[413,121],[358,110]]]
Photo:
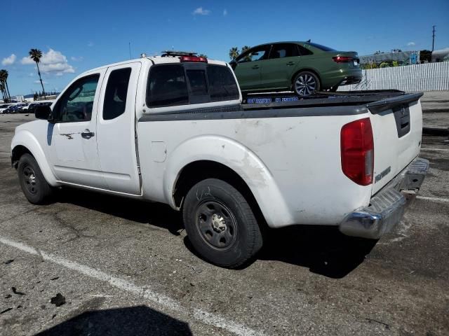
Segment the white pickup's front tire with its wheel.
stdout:
[[41,169],[32,155],[24,154],[18,164],[20,188],[32,204],[44,204],[52,194],[52,188],[43,177]]

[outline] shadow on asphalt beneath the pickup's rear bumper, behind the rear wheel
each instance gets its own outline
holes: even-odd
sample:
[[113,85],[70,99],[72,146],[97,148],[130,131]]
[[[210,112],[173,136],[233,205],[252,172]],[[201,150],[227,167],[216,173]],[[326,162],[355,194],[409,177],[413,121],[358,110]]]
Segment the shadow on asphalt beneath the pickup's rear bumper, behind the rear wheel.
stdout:
[[295,225],[270,230],[258,258],[309,267],[310,272],[340,279],[358,267],[376,243],[343,235],[337,227]]

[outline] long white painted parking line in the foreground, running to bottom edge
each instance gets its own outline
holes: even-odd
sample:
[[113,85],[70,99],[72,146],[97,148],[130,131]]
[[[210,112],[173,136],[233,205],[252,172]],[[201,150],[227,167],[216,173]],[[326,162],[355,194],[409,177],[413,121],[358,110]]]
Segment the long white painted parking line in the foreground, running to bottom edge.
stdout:
[[6,237],[0,237],[0,243],[11,246],[13,248],[18,248],[20,251],[23,251],[23,252],[26,252],[26,253],[29,253],[32,255],[38,255],[43,260],[48,260],[50,262],[54,262],[55,264],[58,264],[62,267],[66,267],[68,269],[72,269],[72,270],[79,272],[81,274],[84,274],[86,276],[90,276],[91,278],[94,278],[94,279],[97,279],[100,281],[105,281],[105,282],[109,283],[110,285],[112,285],[116,288],[119,288],[121,290],[126,290],[130,293],[134,293],[136,295],[141,295],[142,297],[145,297],[145,299],[149,300],[150,302],[159,304],[162,307],[165,307],[172,311],[176,311],[177,313],[181,313],[184,316],[186,314],[193,313],[192,315],[189,314],[189,316],[193,316],[197,321],[199,321],[201,323],[213,325],[214,327],[225,329],[229,332],[233,332],[236,335],[242,335],[242,336],[263,335],[262,332],[255,331],[253,329],[246,327],[245,325],[236,323],[234,321],[229,321],[227,318],[224,318],[217,314],[210,313],[208,311],[203,311],[202,309],[194,308],[193,311],[189,311],[188,308],[182,307],[182,305],[179,302],[177,302],[176,300],[173,300],[166,295],[156,293],[153,290],[149,289],[148,286],[145,286],[145,288],[136,286],[134,283],[132,283],[130,281],[126,281],[125,279],[121,279],[116,276],[109,275],[105,272],[99,271],[98,269],[94,269],[92,267],[88,267],[86,265],[81,265],[78,262],[67,260],[65,258],[60,258],[57,255],[53,255],[51,253],[47,253],[45,251],[38,250],[32,246],[22,244],[18,241],[13,241]]

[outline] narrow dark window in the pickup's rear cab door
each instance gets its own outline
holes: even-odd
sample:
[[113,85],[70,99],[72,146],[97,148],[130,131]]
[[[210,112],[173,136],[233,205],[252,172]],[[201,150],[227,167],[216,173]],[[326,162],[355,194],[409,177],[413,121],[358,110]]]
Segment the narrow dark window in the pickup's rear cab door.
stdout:
[[109,74],[103,105],[103,120],[117,118],[125,112],[130,76],[131,68],[114,70]]

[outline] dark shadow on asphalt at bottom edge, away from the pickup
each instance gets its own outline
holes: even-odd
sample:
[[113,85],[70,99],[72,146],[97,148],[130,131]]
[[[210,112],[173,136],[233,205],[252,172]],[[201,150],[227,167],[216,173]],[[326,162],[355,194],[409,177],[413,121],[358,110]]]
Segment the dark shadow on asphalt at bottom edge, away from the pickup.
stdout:
[[192,335],[189,325],[145,306],[86,311],[36,336]]

